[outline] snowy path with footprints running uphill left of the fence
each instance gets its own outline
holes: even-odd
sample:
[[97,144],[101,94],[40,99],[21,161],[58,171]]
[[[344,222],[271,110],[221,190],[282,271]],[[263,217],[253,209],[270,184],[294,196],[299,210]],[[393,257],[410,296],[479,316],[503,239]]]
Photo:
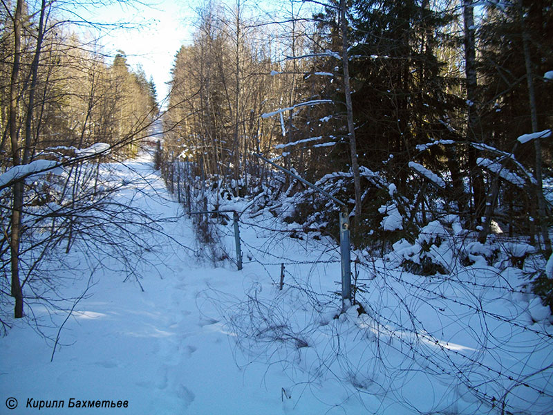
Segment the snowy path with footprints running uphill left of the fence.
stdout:
[[[151,172],[151,160],[135,160],[128,166],[128,171],[121,169],[123,176],[141,172],[144,181],[124,190],[122,198],[158,215],[179,216],[180,209],[158,173]],[[136,188],[142,190],[136,192]],[[174,240],[194,246],[187,219],[169,221],[164,228]],[[258,278],[254,267],[246,266],[242,272],[229,269],[230,265],[199,268],[176,243],[163,246],[162,251],[163,257],[152,259],[155,270],[142,267],[144,292],[136,282],[122,282],[121,273],[95,275],[92,295],[79,302],[64,326],[60,344],[66,345],[58,346],[53,362],[52,342],[45,342],[26,322],[16,322],[9,335],[0,339],[2,408],[12,396],[19,406],[10,414],[36,412],[37,408],[26,407],[28,399],[31,406],[40,400],[46,405],[64,400],[64,409],[41,409],[52,414],[288,412],[295,399],[283,404],[281,396],[290,380],[279,369],[259,363],[238,369],[232,334],[225,332],[203,295],[213,289],[243,294],[250,280]],[[82,262],[78,256],[74,260]],[[87,278],[84,275],[65,289],[79,295]],[[37,306],[34,311],[44,317]],[[53,320],[59,324],[63,317]],[[55,338],[54,328],[43,330]],[[129,407],[68,408],[71,398],[74,402],[128,400]],[[328,409],[324,403],[304,399],[293,412],[321,414]]]

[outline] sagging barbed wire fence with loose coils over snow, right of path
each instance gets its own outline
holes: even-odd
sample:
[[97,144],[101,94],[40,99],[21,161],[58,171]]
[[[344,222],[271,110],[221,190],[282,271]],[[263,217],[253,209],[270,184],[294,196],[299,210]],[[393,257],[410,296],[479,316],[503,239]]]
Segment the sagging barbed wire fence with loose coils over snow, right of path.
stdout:
[[[188,212],[207,212],[213,192],[198,175],[185,184],[188,167],[181,167],[174,192]],[[171,183],[175,175],[164,177]],[[232,214],[196,217],[218,244],[209,255],[238,264],[223,242],[236,237]],[[543,261],[532,252],[509,254],[521,238],[494,235],[496,252],[486,257],[470,251],[476,236],[423,230],[430,245],[447,245],[435,250],[433,262],[442,268],[429,275],[413,268],[416,258],[354,251],[353,307],[344,311],[336,235],[319,229],[318,241],[305,237],[312,229],[284,228],[285,217],[265,204],[239,221],[259,237],[259,244],[238,238],[242,264],[263,270],[272,290],[254,282],[244,297],[214,289],[200,294],[234,333],[238,365],[281,367],[292,384],[287,396],[317,394],[321,380],[338,380],[349,398],[375,414],[393,405],[417,414],[553,414],[551,317],[536,319],[531,309],[538,297],[530,275]],[[308,259],[277,249],[291,239],[305,243]]]

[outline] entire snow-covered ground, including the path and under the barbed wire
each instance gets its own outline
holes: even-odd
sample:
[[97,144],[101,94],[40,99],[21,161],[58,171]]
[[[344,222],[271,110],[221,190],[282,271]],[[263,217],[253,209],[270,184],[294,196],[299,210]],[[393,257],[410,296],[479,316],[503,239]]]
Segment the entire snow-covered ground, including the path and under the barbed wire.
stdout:
[[[245,213],[243,270],[229,260],[215,267],[191,253],[192,222],[149,156],[117,171],[131,183],[120,200],[162,226],[137,264],[142,277],[124,282],[103,258],[52,362],[53,341],[15,321],[0,339],[0,405],[19,402],[6,413],[36,412],[28,400],[63,400],[40,409],[51,414],[487,414],[503,403],[516,414],[552,413],[551,317],[520,288],[516,268],[498,273],[476,255],[455,278],[430,278],[402,272],[394,259],[367,260],[357,293],[366,313],[340,313],[330,239],[290,238],[268,212]],[[220,233],[234,257],[232,221]],[[77,248],[70,255],[75,270],[93,262]],[[91,275],[55,273],[71,277],[60,288],[67,297],[81,295]],[[66,314],[32,310],[55,339]],[[128,405],[77,409],[71,399]]]

